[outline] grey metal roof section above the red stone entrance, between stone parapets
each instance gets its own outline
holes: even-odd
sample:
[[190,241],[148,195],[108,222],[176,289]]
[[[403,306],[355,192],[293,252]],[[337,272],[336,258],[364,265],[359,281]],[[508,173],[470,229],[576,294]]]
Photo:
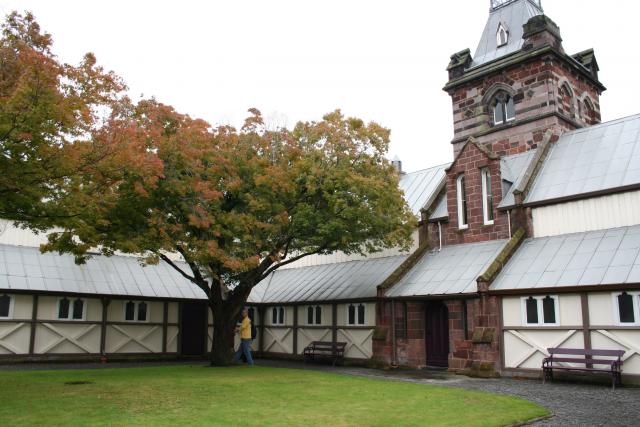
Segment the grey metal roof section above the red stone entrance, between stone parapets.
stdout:
[[464,294],[477,291],[476,279],[507,240],[445,246],[425,254],[388,292],[389,297]]

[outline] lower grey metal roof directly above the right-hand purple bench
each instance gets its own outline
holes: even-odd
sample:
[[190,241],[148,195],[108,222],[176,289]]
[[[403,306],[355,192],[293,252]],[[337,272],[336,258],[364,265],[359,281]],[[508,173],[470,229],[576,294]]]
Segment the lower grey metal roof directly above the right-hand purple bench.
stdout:
[[492,290],[640,283],[640,225],[527,239]]

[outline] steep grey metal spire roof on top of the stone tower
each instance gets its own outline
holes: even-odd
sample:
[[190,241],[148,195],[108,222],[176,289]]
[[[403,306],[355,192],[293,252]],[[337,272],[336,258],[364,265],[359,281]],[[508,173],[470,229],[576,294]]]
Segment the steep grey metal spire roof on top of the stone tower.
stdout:
[[[492,9],[471,66],[477,67],[520,50],[524,43],[522,26],[534,16],[544,13],[538,3],[539,1],[517,0]],[[508,31],[509,39],[506,45],[498,47],[500,24]]]

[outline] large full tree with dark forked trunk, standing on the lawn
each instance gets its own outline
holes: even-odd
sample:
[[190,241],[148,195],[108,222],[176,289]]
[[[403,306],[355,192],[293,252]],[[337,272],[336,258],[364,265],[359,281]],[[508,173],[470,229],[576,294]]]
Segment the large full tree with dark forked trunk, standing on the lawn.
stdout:
[[415,225],[384,158],[388,130],[335,111],[293,131],[267,131],[251,113],[237,131],[155,101],[132,107],[112,122],[113,133],[143,141],[161,171],[128,168],[111,188],[117,196],[85,200],[89,217],[58,222],[65,230],[45,248],[82,261],[99,247],[171,265],[208,297],[215,365],[230,362],[235,319],[277,268],[312,254],[406,248]]

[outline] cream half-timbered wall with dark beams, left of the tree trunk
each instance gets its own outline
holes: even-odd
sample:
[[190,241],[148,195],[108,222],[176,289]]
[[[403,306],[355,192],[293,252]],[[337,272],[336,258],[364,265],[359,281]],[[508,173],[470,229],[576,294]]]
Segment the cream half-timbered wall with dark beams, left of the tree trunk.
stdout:
[[[178,302],[145,301],[147,320],[127,322],[128,300],[68,295],[84,302],[79,319],[59,319],[63,296],[11,295],[11,316],[0,319],[0,356],[33,358],[159,355],[178,351]],[[165,310],[166,305],[166,310]],[[166,313],[166,314],[165,314]],[[71,317],[71,316],[70,316]]]

